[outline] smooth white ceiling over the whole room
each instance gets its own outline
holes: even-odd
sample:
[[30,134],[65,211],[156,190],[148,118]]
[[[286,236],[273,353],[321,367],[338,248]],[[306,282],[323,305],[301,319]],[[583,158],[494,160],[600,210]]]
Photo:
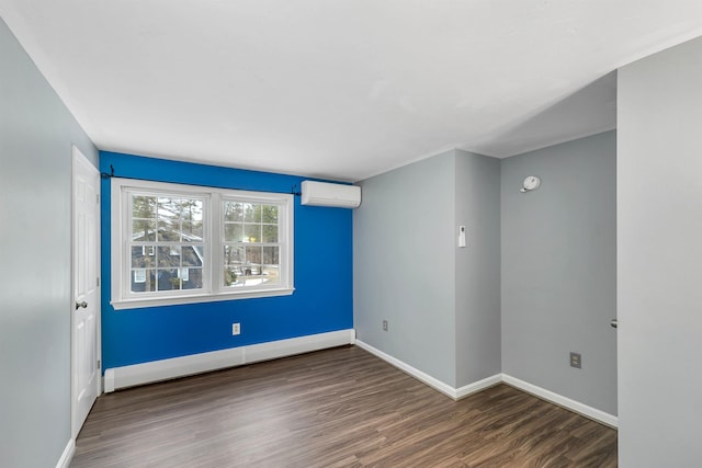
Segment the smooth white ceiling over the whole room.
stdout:
[[100,149],[358,181],[615,127],[702,0],[0,0]]

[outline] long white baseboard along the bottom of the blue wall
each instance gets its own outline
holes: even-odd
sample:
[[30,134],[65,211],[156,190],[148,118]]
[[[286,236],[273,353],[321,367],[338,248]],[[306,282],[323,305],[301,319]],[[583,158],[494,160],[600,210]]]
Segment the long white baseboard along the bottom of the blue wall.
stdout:
[[109,393],[118,388],[152,384],[155,381],[354,343],[355,330],[348,329],[131,366],[113,367],[105,369],[104,391]]

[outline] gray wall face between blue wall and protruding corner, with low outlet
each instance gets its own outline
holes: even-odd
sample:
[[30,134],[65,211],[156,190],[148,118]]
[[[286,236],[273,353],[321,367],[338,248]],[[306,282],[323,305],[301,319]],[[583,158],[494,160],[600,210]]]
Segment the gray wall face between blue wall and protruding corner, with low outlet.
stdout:
[[363,201],[353,212],[353,324],[359,340],[451,386],[454,159],[449,151],[362,181]]

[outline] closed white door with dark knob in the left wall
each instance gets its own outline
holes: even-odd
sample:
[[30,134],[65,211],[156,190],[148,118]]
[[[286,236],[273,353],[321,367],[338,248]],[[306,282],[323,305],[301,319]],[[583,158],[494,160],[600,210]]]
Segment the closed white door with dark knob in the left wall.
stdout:
[[100,395],[100,172],[73,147],[71,435]]

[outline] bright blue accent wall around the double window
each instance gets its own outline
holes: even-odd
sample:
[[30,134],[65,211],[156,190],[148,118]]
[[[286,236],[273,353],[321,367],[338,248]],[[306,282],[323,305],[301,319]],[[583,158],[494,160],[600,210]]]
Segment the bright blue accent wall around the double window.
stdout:
[[[115,176],[291,193],[306,178],[100,152]],[[353,328],[350,209],[302,206],[295,197],[292,296],[114,310],[110,179],[102,180],[103,369]],[[241,334],[231,335],[231,323]]]

